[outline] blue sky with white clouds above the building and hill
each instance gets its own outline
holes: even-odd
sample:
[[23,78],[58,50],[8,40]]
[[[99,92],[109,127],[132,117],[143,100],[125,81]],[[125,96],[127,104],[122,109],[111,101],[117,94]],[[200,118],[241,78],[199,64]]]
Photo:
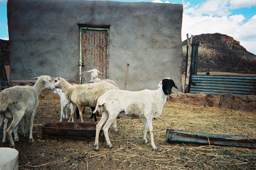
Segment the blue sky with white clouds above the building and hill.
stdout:
[[[256,54],[256,0],[113,0],[183,4],[182,41],[202,33],[222,33]],[[7,0],[0,0],[0,39],[9,40]]]

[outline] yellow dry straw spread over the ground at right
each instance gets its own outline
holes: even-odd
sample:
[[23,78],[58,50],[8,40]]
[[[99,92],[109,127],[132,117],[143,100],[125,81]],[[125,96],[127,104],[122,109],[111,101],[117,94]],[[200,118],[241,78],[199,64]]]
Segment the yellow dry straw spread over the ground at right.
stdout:
[[[117,141],[123,141],[124,145],[109,150],[104,148],[106,144],[100,144],[100,152],[94,152],[91,147],[79,151],[79,154],[86,152],[90,155],[88,158],[94,158],[95,162],[102,158],[112,158],[118,169],[137,169],[137,166],[136,168],[133,166],[134,160],[135,162],[140,160],[140,163],[144,164],[141,166],[142,169],[254,169],[256,149],[168,144],[165,142],[165,132],[166,129],[172,128],[216,134],[243,134],[246,138],[255,139],[255,114],[255,112],[166,103],[162,115],[153,121],[158,152],[151,151],[150,144],[141,144],[143,119],[118,119],[118,127],[123,135],[118,136],[113,133],[113,129],[110,129],[110,140],[114,146]],[[152,167],[152,163],[155,166]],[[104,168],[104,164],[101,167]]]

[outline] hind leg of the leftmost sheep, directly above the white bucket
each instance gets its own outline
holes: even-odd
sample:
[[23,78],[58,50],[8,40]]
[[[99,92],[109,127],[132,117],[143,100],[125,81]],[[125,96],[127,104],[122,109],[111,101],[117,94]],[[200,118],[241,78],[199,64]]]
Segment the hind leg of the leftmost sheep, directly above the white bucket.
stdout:
[[12,123],[6,130],[6,135],[9,138],[11,148],[15,148],[14,141],[12,139],[12,132],[13,132],[14,128],[16,126],[18,126],[18,124],[20,123],[20,120],[22,119],[24,113],[25,113],[25,111],[20,111],[20,112],[17,112],[15,115],[13,115]]

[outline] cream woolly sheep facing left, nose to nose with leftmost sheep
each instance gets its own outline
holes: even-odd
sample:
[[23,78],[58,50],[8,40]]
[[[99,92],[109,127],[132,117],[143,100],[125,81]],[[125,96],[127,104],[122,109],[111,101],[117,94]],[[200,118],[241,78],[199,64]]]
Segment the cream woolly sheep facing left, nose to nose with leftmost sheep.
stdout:
[[[57,77],[54,79],[55,88],[60,88],[65,93],[66,98],[74,104],[74,109],[71,117],[75,114],[76,108],[78,107],[81,122],[84,122],[82,106],[84,107],[95,107],[98,98],[106,91],[110,89],[119,89],[115,85],[110,84],[106,81],[88,83],[82,85],[71,85],[64,78]],[[71,121],[71,117],[68,122]],[[116,121],[114,123],[114,129],[117,131]]]

